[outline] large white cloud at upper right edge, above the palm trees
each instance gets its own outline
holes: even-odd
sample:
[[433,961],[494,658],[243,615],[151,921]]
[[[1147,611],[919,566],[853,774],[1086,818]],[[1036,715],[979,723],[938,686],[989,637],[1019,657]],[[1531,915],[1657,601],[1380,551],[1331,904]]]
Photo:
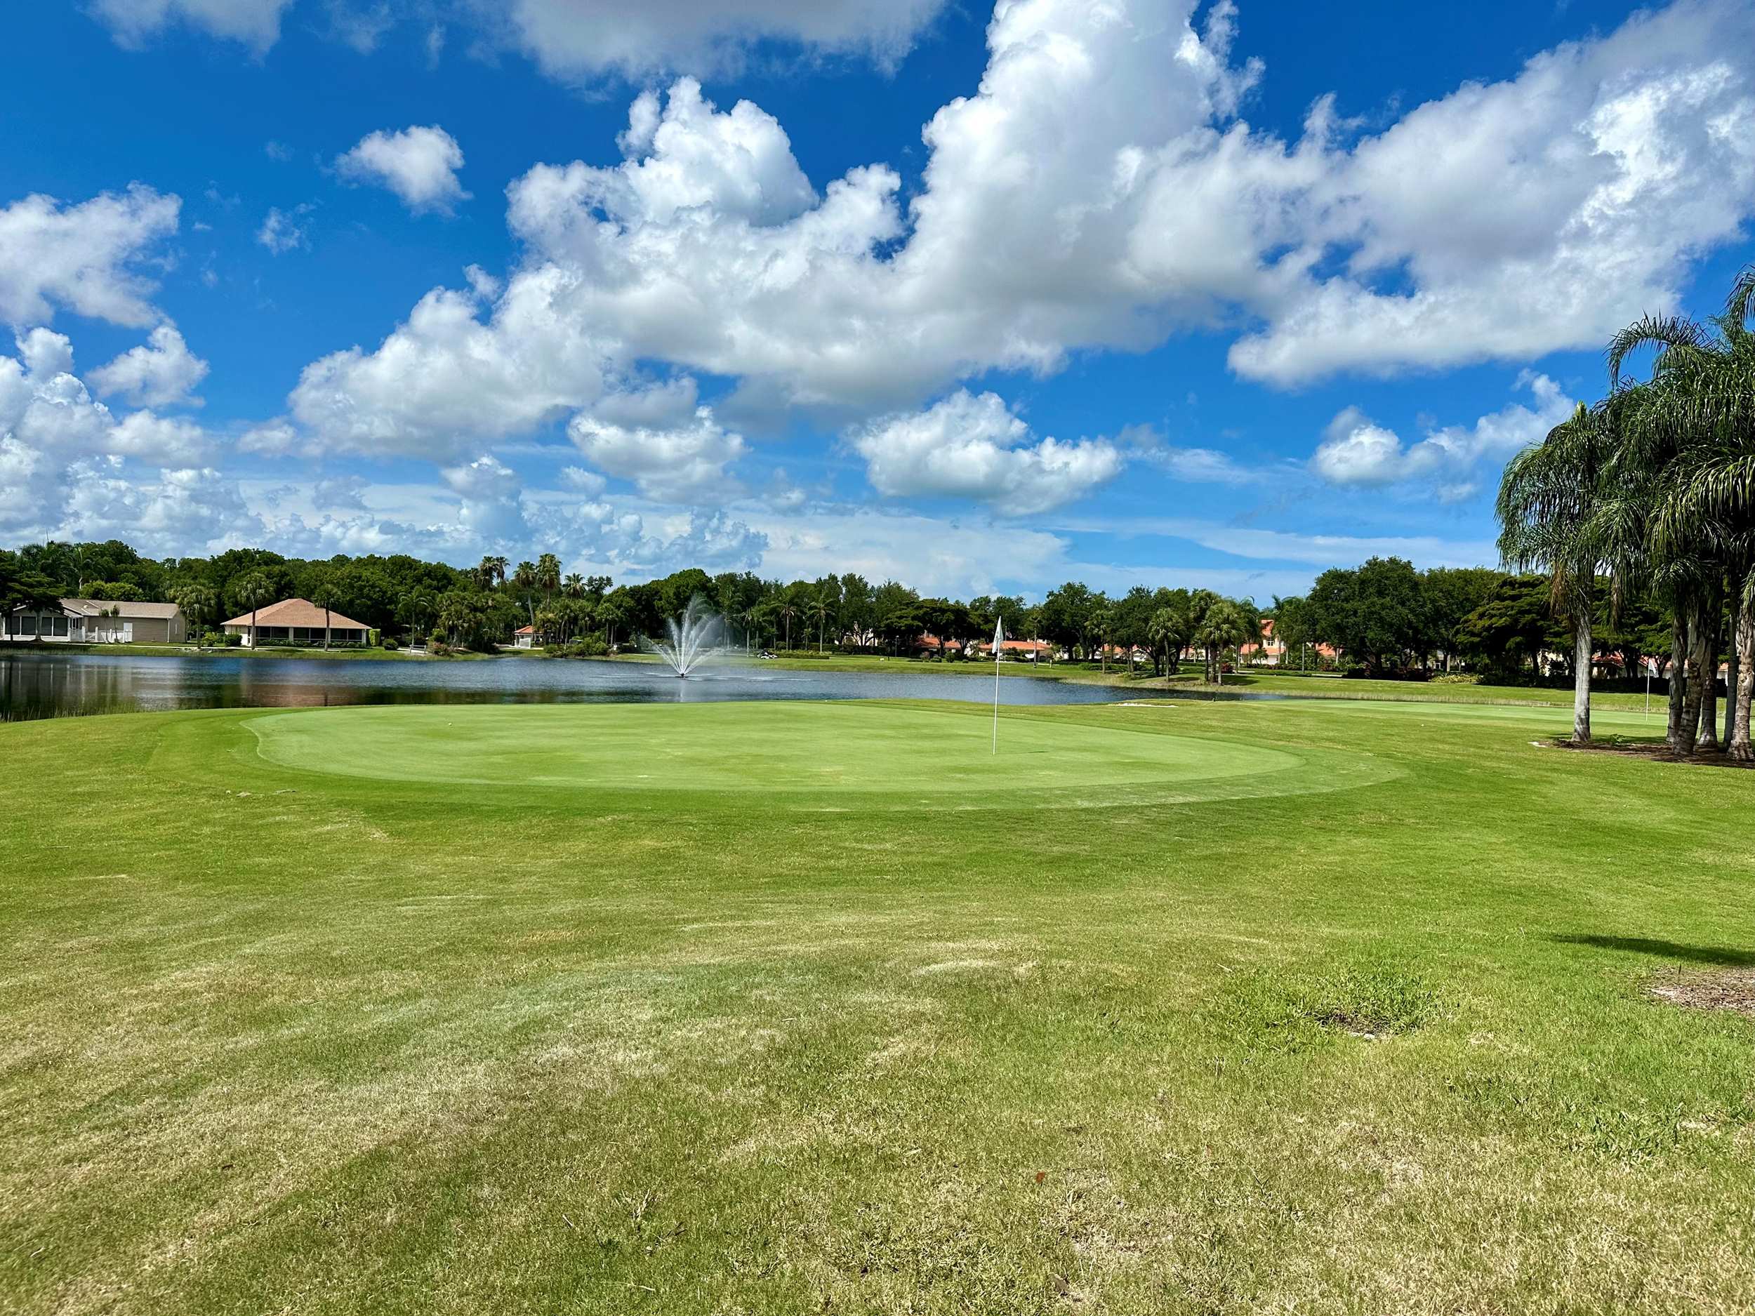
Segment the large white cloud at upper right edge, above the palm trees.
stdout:
[[1313,190],[1307,242],[1346,272],[1299,279],[1232,349],[1299,383],[1594,347],[1671,305],[1688,263],[1755,204],[1755,11],[1681,0],[1420,105]]

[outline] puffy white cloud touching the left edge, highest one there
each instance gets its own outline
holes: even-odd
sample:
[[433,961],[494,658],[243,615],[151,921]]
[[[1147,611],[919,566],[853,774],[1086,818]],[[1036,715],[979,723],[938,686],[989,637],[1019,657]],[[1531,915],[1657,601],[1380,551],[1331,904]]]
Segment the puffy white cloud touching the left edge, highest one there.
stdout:
[[79,205],[32,195],[0,209],[0,321],[46,323],[60,305],[114,325],[151,325],[154,284],[139,265],[177,232],[181,205],[133,184]]

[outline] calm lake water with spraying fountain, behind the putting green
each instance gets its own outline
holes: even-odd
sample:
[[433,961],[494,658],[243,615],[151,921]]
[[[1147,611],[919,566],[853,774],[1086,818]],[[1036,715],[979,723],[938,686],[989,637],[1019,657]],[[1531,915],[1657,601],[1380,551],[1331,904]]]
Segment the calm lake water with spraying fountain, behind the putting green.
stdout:
[[[677,681],[649,663],[498,658],[347,662],[312,658],[156,658],[0,653],[0,719],[160,709],[326,707],[335,704],[691,704],[753,698],[946,698],[986,704],[993,683],[913,663],[888,672],[721,667]],[[1002,704],[1107,704],[1137,691],[1006,677]]]

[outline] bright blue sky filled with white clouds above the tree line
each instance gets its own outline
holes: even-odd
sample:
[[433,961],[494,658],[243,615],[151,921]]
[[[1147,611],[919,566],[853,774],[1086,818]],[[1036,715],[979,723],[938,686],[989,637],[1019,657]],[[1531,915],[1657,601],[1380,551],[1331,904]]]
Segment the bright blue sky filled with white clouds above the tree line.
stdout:
[[1755,258],[1729,0],[9,19],[0,542],[923,590],[1492,560]]

